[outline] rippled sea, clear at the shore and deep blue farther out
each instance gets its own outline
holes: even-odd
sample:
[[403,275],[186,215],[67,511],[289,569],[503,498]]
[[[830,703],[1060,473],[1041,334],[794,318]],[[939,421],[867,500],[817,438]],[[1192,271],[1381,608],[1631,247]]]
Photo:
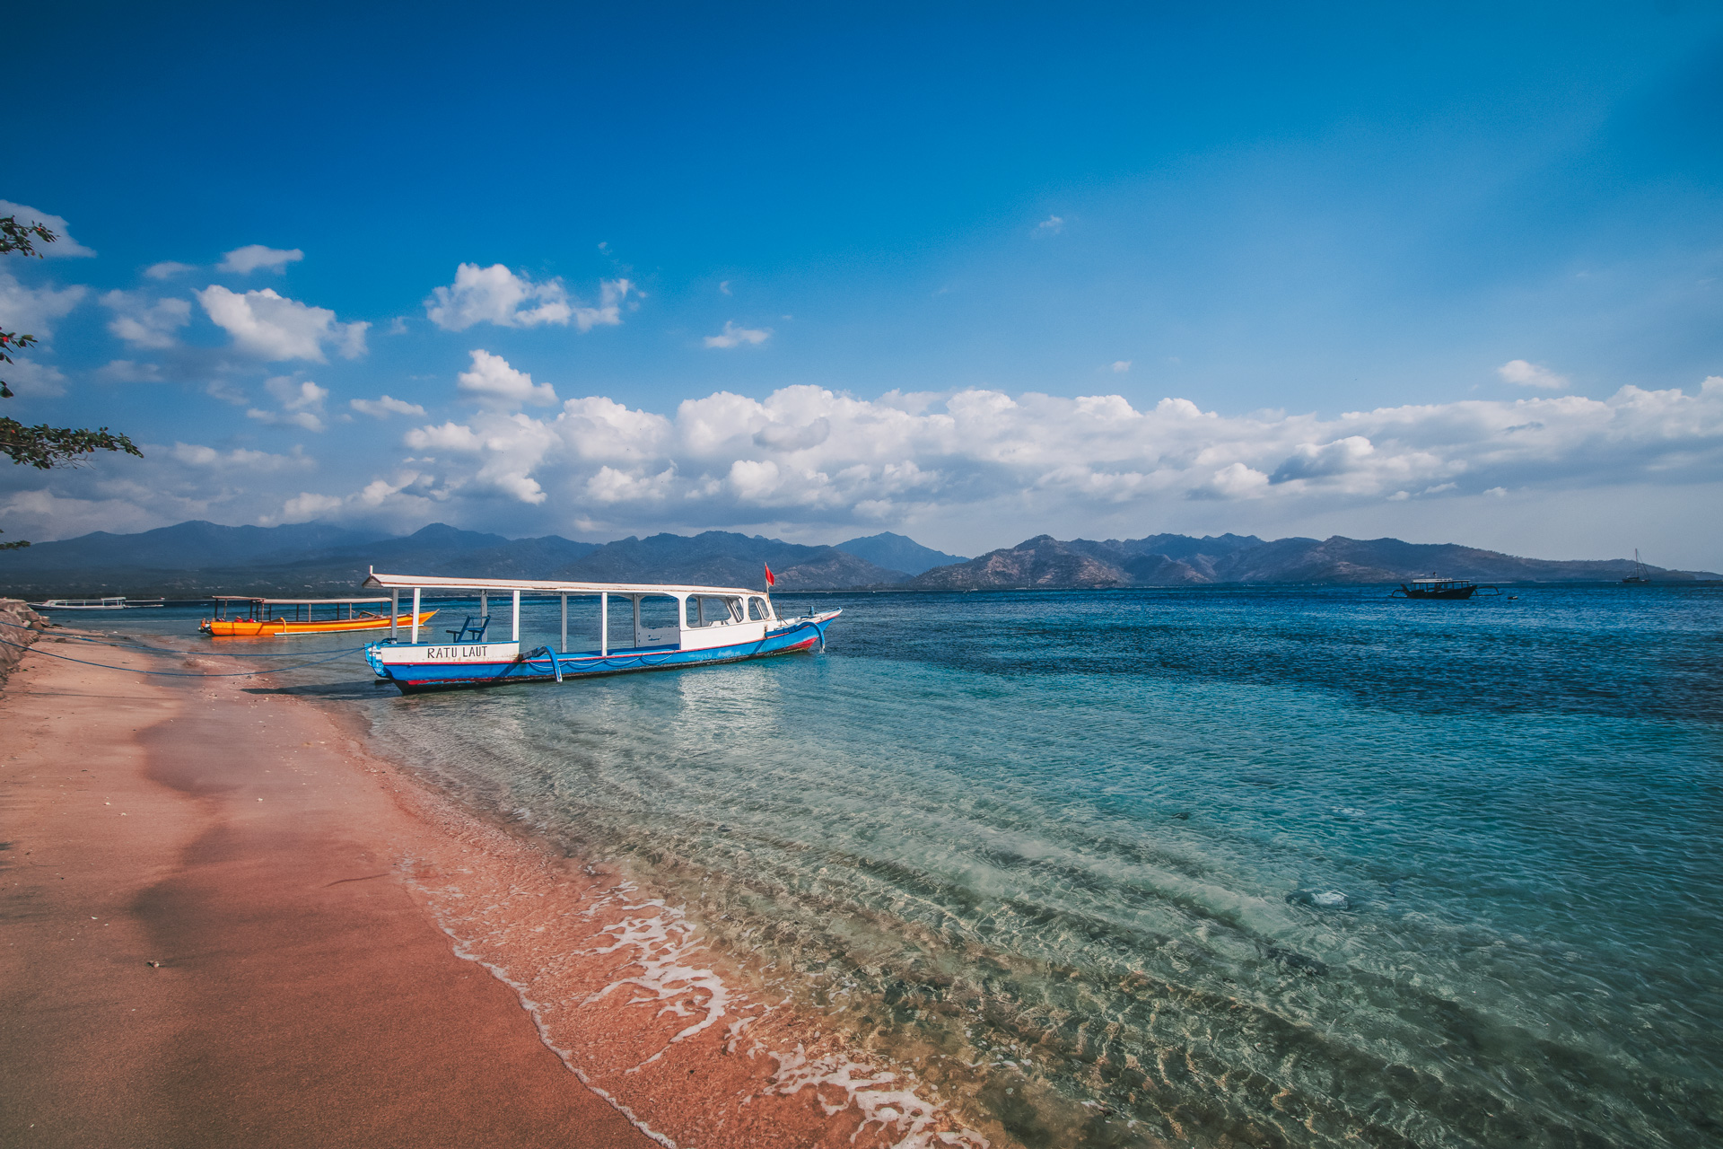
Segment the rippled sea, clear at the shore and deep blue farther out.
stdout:
[[1723,1144],[1723,591],[1516,593],[834,594],[813,656],[295,680],[1029,1146]]

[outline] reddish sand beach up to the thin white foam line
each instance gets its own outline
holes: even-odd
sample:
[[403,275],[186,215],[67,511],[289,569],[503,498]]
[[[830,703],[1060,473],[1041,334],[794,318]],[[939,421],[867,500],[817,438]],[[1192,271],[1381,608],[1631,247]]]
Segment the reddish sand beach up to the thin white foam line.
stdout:
[[258,686],[0,693],[0,1144],[651,1146],[414,901],[389,775]]

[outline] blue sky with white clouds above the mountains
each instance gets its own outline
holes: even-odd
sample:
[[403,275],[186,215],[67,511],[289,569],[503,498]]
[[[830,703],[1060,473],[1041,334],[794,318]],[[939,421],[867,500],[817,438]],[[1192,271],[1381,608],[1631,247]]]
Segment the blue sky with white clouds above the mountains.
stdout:
[[1189,9],[57,5],[0,527],[1723,567],[1723,5]]

